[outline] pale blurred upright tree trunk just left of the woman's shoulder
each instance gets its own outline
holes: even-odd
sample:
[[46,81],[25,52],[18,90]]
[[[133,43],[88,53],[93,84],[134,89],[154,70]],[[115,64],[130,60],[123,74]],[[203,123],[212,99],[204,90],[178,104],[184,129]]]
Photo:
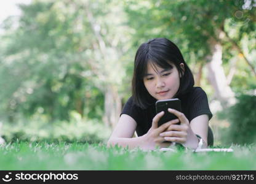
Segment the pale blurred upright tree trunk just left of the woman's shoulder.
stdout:
[[114,128],[114,125],[118,123],[119,115],[121,113],[121,99],[118,95],[118,91],[114,86],[106,86],[105,90],[105,113],[103,121],[106,126]]

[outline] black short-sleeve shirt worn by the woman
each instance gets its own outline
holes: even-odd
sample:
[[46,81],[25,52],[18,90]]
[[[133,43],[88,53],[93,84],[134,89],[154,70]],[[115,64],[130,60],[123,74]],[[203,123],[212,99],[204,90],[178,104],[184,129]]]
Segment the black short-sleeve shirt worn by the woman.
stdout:
[[[193,87],[190,92],[184,94],[183,96],[178,96],[177,98],[182,101],[182,113],[185,114],[188,121],[191,121],[193,118],[202,114],[207,114],[209,116],[209,120],[212,118],[207,95],[202,88]],[[151,128],[152,120],[156,115],[156,107],[153,104],[147,109],[141,109],[134,104],[131,96],[124,105],[121,115],[122,114],[127,114],[134,118],[137,123],[136,132],[138,136],[142,136]]]

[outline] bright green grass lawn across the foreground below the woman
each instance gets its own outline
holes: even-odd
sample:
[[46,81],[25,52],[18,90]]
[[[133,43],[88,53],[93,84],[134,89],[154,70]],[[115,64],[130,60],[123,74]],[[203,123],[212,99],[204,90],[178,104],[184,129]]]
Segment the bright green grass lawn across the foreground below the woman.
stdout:
[[14,142],[0,147],[0,170],[255,170],[255,145],[234,152],[142,151],[104,144]]

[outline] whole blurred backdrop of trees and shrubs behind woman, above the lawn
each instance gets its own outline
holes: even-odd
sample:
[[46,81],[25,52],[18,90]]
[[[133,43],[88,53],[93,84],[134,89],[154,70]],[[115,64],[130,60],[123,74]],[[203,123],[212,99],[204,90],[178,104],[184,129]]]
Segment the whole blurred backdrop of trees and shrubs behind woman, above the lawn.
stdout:
[[0,10],[6,142],[106,142],[138,46],[166,37],[207,93],[215,145],[255,143],[255,0],[10,0]]

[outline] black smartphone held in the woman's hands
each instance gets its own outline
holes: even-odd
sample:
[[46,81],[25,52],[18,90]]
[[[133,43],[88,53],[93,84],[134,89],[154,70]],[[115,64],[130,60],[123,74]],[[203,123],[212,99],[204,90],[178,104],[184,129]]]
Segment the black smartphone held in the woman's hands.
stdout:
[[[178,98],[156,101],[156,113],[164,111],[164,115],[158,121],[158,127],[167,121],[175,120],[177,117],[168,111],[168,108],[182,111],[182,102]],[[177,123],[180,124],[180,123]]]

